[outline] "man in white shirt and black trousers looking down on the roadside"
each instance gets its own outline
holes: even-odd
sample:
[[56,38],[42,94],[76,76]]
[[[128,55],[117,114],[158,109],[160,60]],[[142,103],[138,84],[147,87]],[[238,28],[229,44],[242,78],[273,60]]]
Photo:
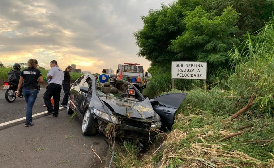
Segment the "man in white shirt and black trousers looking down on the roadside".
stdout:
[[[54,117],[58,117],[59,110],[59,101],[60,101],[60,93],[62,90],[62,82],[64,80],[64,73],[58,67],[57,61],[52,60],[50,62],[51,69],[47,73],[47,80],[49,85],[47,86],[47,90],[44,93],[44,102],[46,107],[48,108],[48,112],[44,115],[53,114]],[[54,100],[54,108],[51,104],[51,97]]]

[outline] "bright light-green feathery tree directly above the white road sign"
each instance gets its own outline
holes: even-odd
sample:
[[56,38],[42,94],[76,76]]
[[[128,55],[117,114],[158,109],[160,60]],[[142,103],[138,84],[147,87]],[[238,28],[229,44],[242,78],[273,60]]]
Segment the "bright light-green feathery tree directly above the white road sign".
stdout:
[[235,9],[227,7],[220,16],[214,16],[198,6],[185,14],[186,30],[168,49],[178,53],[176,57],[182,61],[205,61],[211,69],[227,65],[227,51],[239,43],[234,37],[239,18]]

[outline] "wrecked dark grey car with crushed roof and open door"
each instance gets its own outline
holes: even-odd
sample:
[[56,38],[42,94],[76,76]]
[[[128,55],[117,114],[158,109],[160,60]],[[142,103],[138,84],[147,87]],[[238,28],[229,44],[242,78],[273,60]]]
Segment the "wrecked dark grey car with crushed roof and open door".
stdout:
[[156,130],[171,129],[185,97],[186,93],[169,93],[149,100],[127,81],[102,84],[85,74],[71,86],[67,111],[82,119],[83,135],[104,133],[114,123],[117,136],[143,140],[158,134]]

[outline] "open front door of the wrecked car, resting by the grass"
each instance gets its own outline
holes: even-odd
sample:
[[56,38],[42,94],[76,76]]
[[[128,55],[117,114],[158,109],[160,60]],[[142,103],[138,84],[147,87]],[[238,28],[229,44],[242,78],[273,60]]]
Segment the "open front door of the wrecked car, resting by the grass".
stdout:
[[160,116],[164,127],[171,130],[174,123],[175,112],[182,104],[187,93],[168,93],[155,97],[152,101],[154,111]]

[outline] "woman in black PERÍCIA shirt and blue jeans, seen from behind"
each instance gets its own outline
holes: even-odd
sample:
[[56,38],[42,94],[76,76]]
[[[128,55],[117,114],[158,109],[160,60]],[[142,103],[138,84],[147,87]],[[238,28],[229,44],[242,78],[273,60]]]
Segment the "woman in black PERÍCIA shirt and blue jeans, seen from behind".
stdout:
[[[38,62],[33,60],[33,59],[29,59],[27,66],[27,69],[24,69],[21,72],[20,75],[20,79],[19,79],[19,84],[18,84],[18,88],[16,91],[16,96],[19,96],[19,90],[21,89],[23,80],[24,80],[24,84],[23,84],[23,95],[24,98],[26,100],[27,103],[27,113],[26,113],[26,122],[25,122],[25,126],[32,126],[32,107],[33,104],[36,100],[37,94],[38,94],[38,85],[37,83],[42,83],[43,82],[43,77],[41,72],[36,69],[38,65]],[[37,81],[37,79],[39,79]]]

